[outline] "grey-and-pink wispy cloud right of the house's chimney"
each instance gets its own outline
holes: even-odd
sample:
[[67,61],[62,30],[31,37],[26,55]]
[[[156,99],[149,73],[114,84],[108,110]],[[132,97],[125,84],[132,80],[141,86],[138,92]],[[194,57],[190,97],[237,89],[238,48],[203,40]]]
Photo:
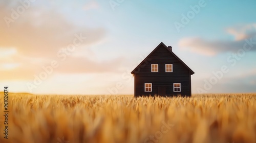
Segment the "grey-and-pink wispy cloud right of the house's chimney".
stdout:
[[[256,42],[256,24],[228,28],[227,32],[234,36],[233,40],[209,41],[203,38],[183,38],[179,41],[179,46],[183,50],[188,50],[206,56],[214,56],[223,52],[237,52],[242,49],[245,39]],[[252,47],[251,51],[255,51]]]

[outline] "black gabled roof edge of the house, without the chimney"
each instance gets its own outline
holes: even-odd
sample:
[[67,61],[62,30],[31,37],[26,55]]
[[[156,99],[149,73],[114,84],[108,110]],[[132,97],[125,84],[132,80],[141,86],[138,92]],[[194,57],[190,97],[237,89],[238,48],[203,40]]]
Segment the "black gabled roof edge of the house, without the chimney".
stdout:
[[174,57],[176,57],[176,58],[190,71],[191,75],[195,74],[195,72],[194,72],[192,69],[190,69],[178,56],[176,56],[172,51],[170,51],[170,50],[168,49],[168,47],[167,47],[163,42],[161,42],[148,56],[146,56],[146,58],[145,58],[137,67],[134,68],[134,70],[131,72],[131,74],[134,74],[134,72],[136,71],[136,69],[137,69],[144,61],[146,61],[147,58],[150,57],[150,56],[160,47],[160,45],[163,45],[163,46],[168,50],[168,52],[170,52],[170,54],[172,54]]

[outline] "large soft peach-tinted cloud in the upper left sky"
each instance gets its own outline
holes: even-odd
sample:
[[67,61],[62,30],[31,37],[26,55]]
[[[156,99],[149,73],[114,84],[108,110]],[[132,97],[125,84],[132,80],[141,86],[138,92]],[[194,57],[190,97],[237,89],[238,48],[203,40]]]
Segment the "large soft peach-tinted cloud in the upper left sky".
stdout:
[[[0,11],[4,11],[1,9]],[[30,14],[10,23],[0,23],[1,47],[15,47],[20,54],[30,57],[55,56],[63,46],[74,39],[74,35],[82,33],[88,37],[83,45],[92,44],[104,37],[103,28],[78,27],[68,21],[65,16],[53,10],[31,9]],[[0,12],[2,13],[2,12]],[[0,17],[4,15],[0,14]]]

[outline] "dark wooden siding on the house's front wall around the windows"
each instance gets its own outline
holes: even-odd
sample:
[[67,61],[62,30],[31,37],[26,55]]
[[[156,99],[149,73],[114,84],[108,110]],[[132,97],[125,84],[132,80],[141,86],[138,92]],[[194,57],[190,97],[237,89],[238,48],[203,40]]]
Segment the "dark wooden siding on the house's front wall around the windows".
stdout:
[[[151,72],[151,64],[158,64],[158,72]],[[173,72],[165,72],[165,64],[173,64]],[[166,87],[167,96],[191,96],[191,81],[188,68],[164,46],[158,47],[135,71],[135,97],[158,94],[158,87]],[[144,92],[144,83],[152,83],[152,92]],[[173,91],[173,84],[181,83],[181,92]]]

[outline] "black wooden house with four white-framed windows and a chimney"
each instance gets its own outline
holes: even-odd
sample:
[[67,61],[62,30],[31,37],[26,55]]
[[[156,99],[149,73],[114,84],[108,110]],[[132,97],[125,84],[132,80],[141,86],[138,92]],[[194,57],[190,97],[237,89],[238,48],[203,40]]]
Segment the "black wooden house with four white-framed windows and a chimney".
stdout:
[[195,74],[173,51],[160,43],[133,71],[134,96],[191,96]]

